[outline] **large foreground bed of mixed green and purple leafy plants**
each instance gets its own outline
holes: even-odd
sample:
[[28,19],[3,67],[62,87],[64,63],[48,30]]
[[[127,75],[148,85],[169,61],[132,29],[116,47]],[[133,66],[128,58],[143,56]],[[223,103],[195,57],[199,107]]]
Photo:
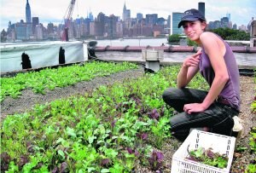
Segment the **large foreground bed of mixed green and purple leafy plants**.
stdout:
[[[6,172],[131,172],[159,170],[170,137],[161,95],[176,85],[178,66],[101,86],[83,96],[38,105],[1,124],[1,169]],[[204,86],[198,77],[193,87]],[[207,86],[207,84],[206,84]]]

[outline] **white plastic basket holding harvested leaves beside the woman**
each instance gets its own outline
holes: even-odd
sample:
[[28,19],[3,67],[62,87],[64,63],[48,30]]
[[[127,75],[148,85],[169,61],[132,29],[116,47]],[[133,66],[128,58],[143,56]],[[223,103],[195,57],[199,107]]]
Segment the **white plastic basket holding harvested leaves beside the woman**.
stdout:
[[[172,156],[171,173],[229,173],[235,149],[236,138],[230,136],[222,136],[215,133],[205,132],[201,130],[192,130],[183,144],[177,149]],[[220,169],[207,164],[201,164],[189,159],[189,151],[199,147],[205,149],[212,147],[213,153],[226,154],[228,156],[228,165],[224,169]]]

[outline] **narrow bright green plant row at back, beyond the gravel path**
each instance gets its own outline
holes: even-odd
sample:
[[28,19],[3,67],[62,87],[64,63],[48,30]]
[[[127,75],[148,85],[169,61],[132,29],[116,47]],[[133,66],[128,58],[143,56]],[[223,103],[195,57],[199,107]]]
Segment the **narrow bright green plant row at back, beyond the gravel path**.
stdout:
[[65,66],[55,69],[46,68],[40,72],[19,73],[14,78],[0,78],[0,102],[6,96],[17,98],[22,89],[32,89],[35,93],[44,94],[45,89],[66,87],[92,78],[108,76],[114,72],[135,69],[134,63],[110,63],[91,61],[83,65]]

